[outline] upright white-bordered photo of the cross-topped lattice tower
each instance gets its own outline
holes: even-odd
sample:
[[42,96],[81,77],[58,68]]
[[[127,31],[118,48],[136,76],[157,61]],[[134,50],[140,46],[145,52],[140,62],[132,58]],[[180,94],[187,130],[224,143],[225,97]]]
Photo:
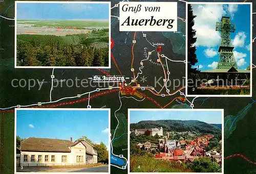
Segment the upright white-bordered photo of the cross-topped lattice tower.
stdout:
[[187,3],[186,95],[252,95],[252,3]]

